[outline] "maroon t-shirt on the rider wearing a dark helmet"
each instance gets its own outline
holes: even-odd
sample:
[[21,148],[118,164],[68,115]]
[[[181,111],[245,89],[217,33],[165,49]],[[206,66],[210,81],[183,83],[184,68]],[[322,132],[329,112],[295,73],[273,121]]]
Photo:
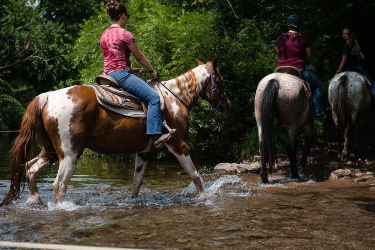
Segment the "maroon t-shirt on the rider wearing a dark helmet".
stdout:
[[282,33],[276,40],[279,49],[278,67],[293,66],[305,69],[306,48],[310,47],[307,36],[301,33]]

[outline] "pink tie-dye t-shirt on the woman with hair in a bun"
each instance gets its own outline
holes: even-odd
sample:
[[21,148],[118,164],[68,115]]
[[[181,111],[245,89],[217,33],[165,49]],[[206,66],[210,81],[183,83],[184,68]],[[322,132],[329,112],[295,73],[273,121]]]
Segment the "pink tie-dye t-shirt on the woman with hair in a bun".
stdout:
[[134,42],[132,33],[124,28],[109,27],[103,31],[100,45],[104,57],[104,75],[118,70],[131,69],[130,50],[127,46]]

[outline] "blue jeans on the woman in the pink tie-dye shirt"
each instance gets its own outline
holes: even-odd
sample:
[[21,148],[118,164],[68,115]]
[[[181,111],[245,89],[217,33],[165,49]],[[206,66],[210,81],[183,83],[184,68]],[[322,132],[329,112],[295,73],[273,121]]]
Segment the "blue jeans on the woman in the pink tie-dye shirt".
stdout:
[[133,75],[130,70],[118,70],[108,75],[116,79],[123,90],[147,102],[147,135],[161,134],[162,114],[159,94],[142,79]]

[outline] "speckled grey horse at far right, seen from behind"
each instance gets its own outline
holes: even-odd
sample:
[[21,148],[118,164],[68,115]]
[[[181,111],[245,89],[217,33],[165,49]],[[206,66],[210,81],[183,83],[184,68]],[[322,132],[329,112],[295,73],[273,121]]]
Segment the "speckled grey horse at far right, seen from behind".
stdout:
[[[358,115],[370,106],[370,85],[363,75],[354,71],[339,73],[329,83],[328,100],[338,134],[338,157],[341,160],[347,158],[349,139],[353,132],[354,148],[357,148],[356,121]],[[344,147],[342,147],[343,137]]]

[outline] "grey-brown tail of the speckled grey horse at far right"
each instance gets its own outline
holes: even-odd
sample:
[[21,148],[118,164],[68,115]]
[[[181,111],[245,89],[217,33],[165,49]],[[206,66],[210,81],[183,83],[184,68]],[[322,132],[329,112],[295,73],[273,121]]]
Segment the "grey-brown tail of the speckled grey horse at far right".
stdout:
[[[345,128],[348,127],[350,130],[353,127],[353,122],[351,119],[351,114],[348,107],[348,76],[343,75],[338,80],[338,105],[337,105],[337,120],[338,120],[338,129],[344,133]],[[348,130],[348,131],[349,131]]]

